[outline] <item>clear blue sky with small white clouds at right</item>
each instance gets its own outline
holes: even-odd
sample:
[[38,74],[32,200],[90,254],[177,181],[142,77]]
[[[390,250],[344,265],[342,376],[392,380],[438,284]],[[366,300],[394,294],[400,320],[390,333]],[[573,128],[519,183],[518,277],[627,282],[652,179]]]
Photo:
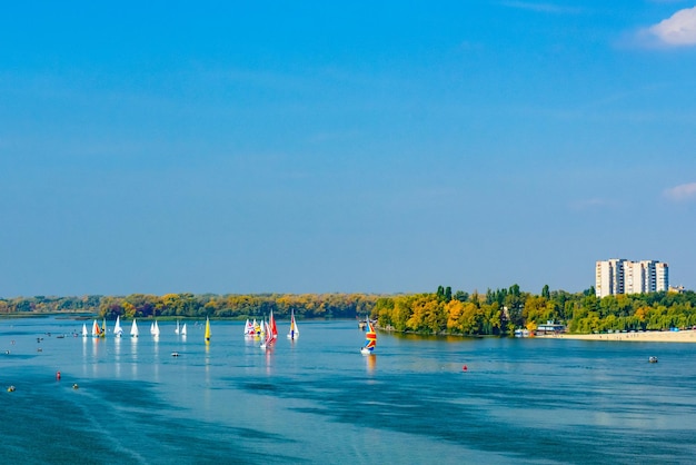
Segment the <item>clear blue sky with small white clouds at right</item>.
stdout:
[[0,296],[696,288],[696,2],[14,2]]

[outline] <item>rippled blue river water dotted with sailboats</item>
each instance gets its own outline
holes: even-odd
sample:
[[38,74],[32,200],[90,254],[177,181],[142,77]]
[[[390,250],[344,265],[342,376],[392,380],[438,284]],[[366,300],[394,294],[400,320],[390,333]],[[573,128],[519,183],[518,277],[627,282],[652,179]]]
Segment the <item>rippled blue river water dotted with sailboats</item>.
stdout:
[[356,321],[279,321],[270,352],[239,321],[149,325],[0,320],[2,463],[696,461],[696,344],[380,333],[366,357]]

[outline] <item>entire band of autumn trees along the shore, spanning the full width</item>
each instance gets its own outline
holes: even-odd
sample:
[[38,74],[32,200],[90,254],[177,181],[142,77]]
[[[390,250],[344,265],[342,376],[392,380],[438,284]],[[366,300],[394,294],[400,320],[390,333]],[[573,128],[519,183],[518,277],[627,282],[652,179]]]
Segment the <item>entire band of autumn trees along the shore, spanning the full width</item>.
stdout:
[[399,333],[506,336],[516,328],[535,330],[555,321],[569,333],[663,330],[696,326],[696,293],[650,293],[598,298],[583,293],[526,293],[513,285],[486,294],[451,291],[374,294],[167,294],[163,296],[16,297],[0,298],[0,316],[74,314],[99,318],[261,319],[270,311],[278,319],[290,311],[301,319],[356,318],[369,315],[382,329]]

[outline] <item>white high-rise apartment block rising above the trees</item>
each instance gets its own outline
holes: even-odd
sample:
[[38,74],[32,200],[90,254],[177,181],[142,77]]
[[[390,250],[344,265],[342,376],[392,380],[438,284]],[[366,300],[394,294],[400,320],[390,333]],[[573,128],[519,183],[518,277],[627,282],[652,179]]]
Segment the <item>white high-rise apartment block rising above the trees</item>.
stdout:
[[658,293],[669,289],[669,266],[657,260],[612,258],[595,266],[597,297],[617,294]]

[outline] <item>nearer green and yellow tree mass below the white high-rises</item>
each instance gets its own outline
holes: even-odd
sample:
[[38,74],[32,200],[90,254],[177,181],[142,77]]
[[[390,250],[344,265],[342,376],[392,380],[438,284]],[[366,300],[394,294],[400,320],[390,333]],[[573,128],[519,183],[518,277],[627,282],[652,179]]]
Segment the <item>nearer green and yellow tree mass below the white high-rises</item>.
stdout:
[[696,293],[650,293],[598,298],[583,293],[549,290],[535,295],[519,289],[488,289],[486,294],[436,293],[380,297],[371,317],[382,328],[402,333],[511,335],[516,328],[536,330],[554,321],[570,333],[660,330],[696,325]]

